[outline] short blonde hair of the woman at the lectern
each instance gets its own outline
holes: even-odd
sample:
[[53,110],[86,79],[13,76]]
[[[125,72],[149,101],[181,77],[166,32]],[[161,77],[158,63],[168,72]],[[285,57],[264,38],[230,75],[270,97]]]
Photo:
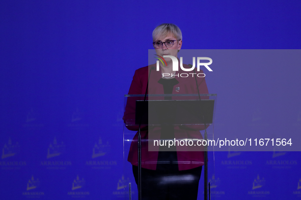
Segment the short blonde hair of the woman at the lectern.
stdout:
[[180,28],[171,23],[158,25],[153,31],[153,41],[158,36],[166,37],[169,33],[173,34],[177,40],[182,40],[182,32]]

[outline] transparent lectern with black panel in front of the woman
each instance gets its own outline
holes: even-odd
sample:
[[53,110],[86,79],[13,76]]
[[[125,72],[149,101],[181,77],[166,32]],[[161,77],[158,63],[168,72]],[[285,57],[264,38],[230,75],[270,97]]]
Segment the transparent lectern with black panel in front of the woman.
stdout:
[[[142,168],[158,170],[172,163],[183,171],[202,165],[198,199],[206,196],[209,199],[210,190],[215,186],[208,187],[208,177],[204,174],[210,177],[215,174],[214,146],[207,146],[207,140],[214,140],[215,106],[216,94],[149,94],[146,98],[144,94],[125,95],[124,199],[139,199],[132,169],[132,165],[139,165],[139,127]],[[171,158],[171,154],[176,158]],[[208,160],[207,167],[204,167],[205,160]]]

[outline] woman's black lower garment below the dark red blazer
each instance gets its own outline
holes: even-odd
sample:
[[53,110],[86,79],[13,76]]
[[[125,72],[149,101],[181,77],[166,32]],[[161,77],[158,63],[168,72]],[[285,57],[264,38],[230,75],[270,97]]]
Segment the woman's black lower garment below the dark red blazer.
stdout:
[[[191,170],[147,170],[142,168],[142,199],[196,200],[202,166]],[[138,166],[133,165],[133,175],[138,185]]]

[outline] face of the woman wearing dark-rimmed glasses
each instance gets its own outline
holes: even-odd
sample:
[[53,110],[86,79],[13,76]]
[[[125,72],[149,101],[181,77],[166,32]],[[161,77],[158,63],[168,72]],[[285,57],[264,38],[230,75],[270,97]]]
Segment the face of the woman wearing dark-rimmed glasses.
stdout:
[[[175,41],[174,41],[175,40]],[[177,39],[172,35],[172,34],[168,34],[166,37],[162,37],[159,36],[155,39],[154,42],[167,42],[167,41],[174,41],[174,45],[172,47],[167,47],[166,43],[162,45],[162,47],[160,49],[155,49],[157,55],[162,56],[163,55],[172,55],[177,57],[178,55],[178,50],[181,49],[182,47],[182,41],[177,41]],[[166,62],[171,62],[171,58],[165,58]]]

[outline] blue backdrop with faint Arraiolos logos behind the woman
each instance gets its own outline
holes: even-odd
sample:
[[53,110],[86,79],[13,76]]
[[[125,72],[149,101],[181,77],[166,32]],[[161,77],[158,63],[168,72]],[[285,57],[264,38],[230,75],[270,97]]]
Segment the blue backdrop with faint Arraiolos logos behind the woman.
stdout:
[[[297,1],[1,1],[0,5],[2,199],[123,198],[126,181],[132,179],[123,176],[124,94],[134,70],[148,63],[151,33],[157,25],[177,24],[183,49],[301,46]],[[270,102],[258,99],[246,103],[247,114],[235,110],[235,115],[249,119],[243,123],[257,123],[246,129],[299,134],[300,73],[291,66],[267,66],[263,72],[221,69],[206,77],[209,93],[218,95],[220,130],[228,127],[228,119],[218,116],[233,106],[229,93],[250,96],[243,89],[250,87],[253,93],[279,91],[287,98],[272,101],[285,105],[283,112],[265,109],[261,105],[271,108]],[[284,123],[270,118],[279,113]],[[214,196],[300,199],[300,162],[299,152],[277,149],[218,152],[218,170],[210,175]]]

